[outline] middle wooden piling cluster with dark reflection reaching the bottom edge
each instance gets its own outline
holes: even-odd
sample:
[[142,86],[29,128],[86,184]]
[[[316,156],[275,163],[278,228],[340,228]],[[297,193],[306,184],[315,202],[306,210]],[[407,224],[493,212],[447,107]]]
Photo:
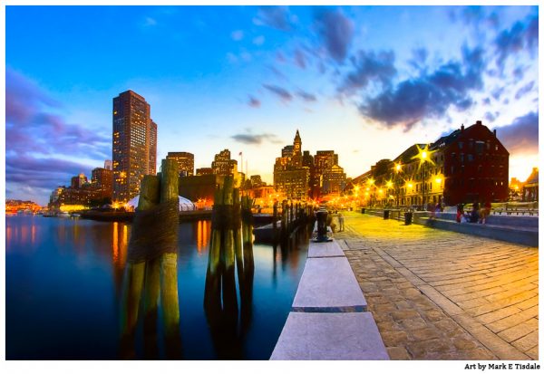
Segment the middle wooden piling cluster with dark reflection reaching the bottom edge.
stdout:
[[218,358],[223,360],[242,358],[242,338],[251,321],[255,272],[252,205],[250,197],[240,197],[232,177],[225,177],[216,189],[204,310]]

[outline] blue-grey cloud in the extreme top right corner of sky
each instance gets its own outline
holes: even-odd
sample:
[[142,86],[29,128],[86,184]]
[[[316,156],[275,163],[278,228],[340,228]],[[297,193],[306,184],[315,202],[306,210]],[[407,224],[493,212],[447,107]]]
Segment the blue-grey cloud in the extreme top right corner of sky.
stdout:
[[495,38],[497,65],[503,70],[507,58],[521,51],[533,53],[539,46],[539,15],[530,14],[525,20],[513,24]]

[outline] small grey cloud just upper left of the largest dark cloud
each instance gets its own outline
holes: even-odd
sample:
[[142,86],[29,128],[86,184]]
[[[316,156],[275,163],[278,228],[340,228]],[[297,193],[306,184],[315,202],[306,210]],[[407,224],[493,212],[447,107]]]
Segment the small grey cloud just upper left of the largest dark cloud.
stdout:
[[355,93],[369,82],[378,81],[387,85],[396,74],[393,51],[380,53],[359,51],[351,61],[355,71],[347,74],[338,88],[338,91],[344,94]]

